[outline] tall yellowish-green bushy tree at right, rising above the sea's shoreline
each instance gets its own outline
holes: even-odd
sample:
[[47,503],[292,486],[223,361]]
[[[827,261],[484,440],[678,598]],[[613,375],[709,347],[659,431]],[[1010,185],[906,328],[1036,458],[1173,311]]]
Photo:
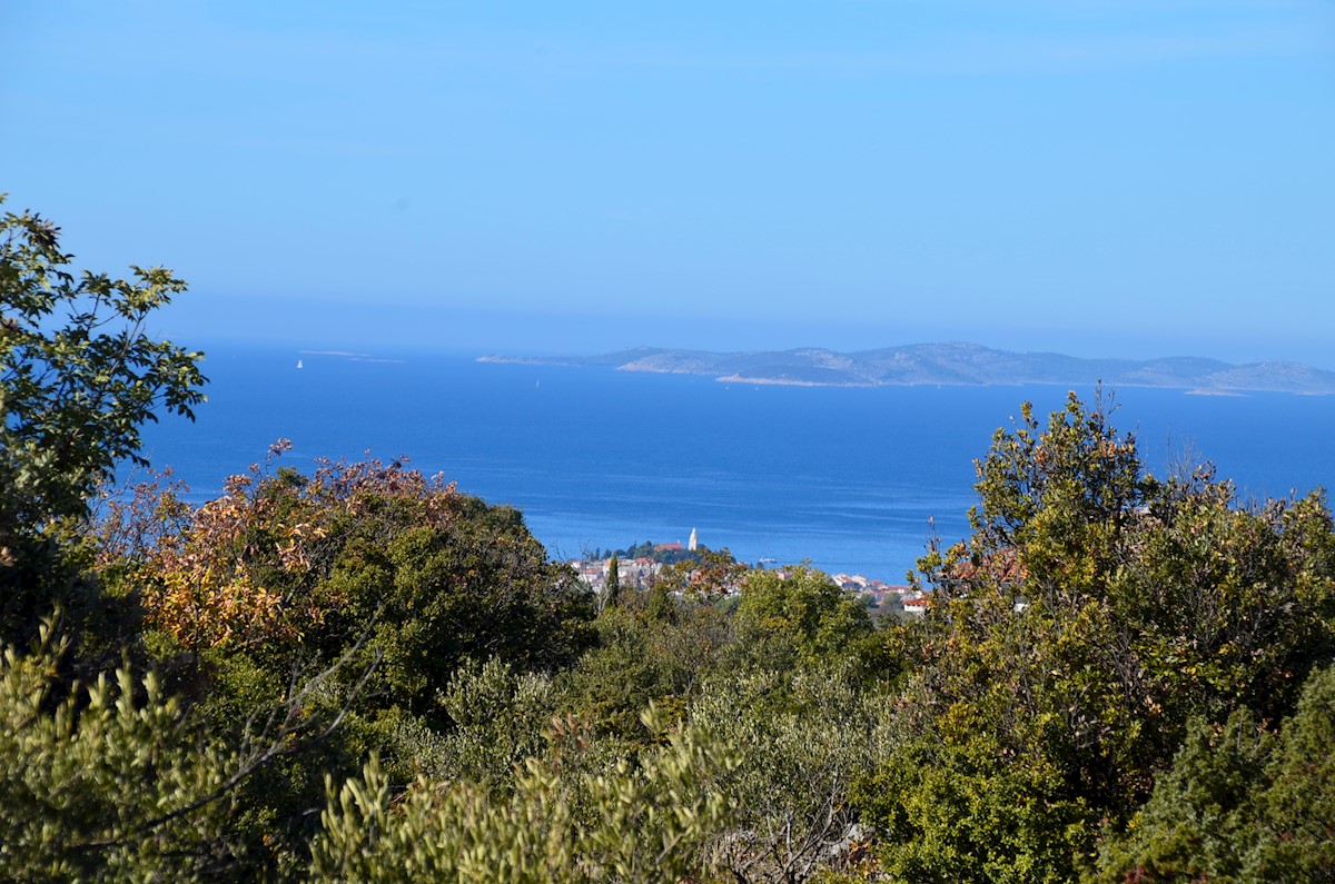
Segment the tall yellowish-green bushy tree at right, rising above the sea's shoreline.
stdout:
[[1041,433],[1023,415],[977,465],[973,537],[920,565],[936,592],[909,738],[860,799],[908,877],[960,876],[1004,845],[1013,859],[976,880],[1072,879],[1192,716],[1248,704],[1274,721],[1335,654],[1322,497],[1258,510],[1208,471],[1159,482],[1103,403],[1073,395]]

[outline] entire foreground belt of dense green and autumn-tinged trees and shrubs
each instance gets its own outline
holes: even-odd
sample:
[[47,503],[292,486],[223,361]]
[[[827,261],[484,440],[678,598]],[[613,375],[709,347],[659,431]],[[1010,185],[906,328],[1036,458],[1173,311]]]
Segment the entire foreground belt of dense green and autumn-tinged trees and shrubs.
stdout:
[[920,620],[702,554],[594,598],[406,463],[103,499],[203,401],[0,238],[0,877],[1335,880],[1335,529],[1148,475],[1103,401],[977,462]]

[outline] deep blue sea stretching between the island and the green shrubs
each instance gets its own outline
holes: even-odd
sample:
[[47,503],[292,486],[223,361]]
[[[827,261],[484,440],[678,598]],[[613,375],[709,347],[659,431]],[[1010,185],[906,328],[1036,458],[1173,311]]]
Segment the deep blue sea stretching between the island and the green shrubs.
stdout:
[[[523,511],[554,558],[642,541],[902,584],[932,537],[968,534],[975,459],[1061,386],[793,387],[478,362],[474,354],[207,350],[196,421],[144,433],[190,499],[291,439],[282,463],[407,457]],[[1087,401],[1095,379],[1073,389]],[[1211,462],[1244,502],[1335,483],[1335,398],[1104,390],[1156,474]]]

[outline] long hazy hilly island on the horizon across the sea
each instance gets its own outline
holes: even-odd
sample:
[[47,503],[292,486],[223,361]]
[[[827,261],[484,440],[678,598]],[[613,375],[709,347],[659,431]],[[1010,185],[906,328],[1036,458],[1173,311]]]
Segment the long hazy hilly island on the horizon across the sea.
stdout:
[[724,383],[805,387],[896,385],[1076,385],[1175,387],[1203,395],[1236,393],[1335,394],[1335,371],[1298,362],[1232,365],[1199,357],[1081,359],[1056,353],[1009,353],[976,343],[918,343],[857,353],[817,347],[708,353],[635,347],[599,357],[479,357],[478,362],[605,366],[618,371],[694,374]]

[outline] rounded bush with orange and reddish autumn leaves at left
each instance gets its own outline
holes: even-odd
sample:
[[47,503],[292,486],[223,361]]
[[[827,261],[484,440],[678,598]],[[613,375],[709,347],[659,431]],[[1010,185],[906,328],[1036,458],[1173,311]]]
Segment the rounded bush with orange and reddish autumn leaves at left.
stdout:
[[370,634],[386,705],[442,724],[437,688],[466,657],[553,668],[587,642],[591,617],[515,510],[402,461],[234,477],[139,576],[150,624],[182,650],[250,654],[280,678]]

